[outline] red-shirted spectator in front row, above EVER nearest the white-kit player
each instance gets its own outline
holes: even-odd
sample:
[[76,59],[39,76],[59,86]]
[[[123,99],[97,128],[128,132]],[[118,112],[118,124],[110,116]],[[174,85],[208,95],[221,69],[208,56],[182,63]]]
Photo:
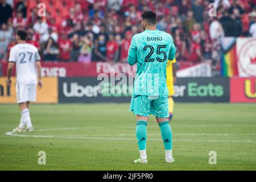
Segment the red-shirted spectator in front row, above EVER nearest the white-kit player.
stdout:
[[60,49],[60,60],[69,61],[71,59],[72,51],[72,42],[68,39],[68,36],[65,32],[62,32],[61,38],[59,40],[59,49]]

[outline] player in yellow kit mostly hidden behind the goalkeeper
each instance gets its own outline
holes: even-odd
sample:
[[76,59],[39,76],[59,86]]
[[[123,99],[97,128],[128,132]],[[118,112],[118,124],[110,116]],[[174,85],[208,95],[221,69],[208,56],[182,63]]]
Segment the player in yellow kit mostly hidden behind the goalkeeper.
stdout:
[[172,96],[174,96],[174,84],[176,82],[176,68],[175,68],[176,58],[172,61],[167,61],[167,69],[166,69],[166,83],[169,91],[168,105],[169,105],[169,121],[172,120],[172,114],[174,112],[174,100]]

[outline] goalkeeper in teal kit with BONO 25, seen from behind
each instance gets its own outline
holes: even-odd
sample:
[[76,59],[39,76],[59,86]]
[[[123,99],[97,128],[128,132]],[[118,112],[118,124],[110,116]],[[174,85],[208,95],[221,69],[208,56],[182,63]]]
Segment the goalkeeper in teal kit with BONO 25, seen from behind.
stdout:
[[128,63],[137,64],[130,111],[137,115],[136,136],[140,157],[134,163],[147,163],[146,142],[148,115],[155,115],[160,127],[166,162],[172,158],[172,130],[168,118],[168,88],[166,84],[167,60],[175,59],[172,36],[156,29],[156,14],[145,11],[142,14],[144,32],[131,40]]

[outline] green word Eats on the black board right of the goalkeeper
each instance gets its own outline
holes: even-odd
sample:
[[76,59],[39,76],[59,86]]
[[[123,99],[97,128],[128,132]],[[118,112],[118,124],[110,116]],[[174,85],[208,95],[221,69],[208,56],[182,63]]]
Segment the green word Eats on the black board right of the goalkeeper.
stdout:
[[189,97],[222,97],[224,95],[224,88],[221,85],[199,85],[197,82],[188,83]]

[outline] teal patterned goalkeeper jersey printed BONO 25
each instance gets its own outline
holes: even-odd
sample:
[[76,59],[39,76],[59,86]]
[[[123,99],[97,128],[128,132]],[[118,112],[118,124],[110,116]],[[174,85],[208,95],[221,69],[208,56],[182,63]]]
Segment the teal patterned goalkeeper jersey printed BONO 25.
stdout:
[[167,60],[175,58],[172,36],[159,30],[145,30],[133,36],[128,63],[137,63],[134,96],[168,95],[166,85]]

